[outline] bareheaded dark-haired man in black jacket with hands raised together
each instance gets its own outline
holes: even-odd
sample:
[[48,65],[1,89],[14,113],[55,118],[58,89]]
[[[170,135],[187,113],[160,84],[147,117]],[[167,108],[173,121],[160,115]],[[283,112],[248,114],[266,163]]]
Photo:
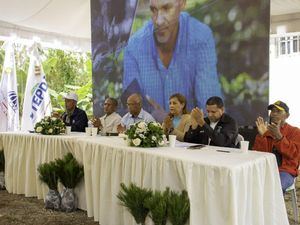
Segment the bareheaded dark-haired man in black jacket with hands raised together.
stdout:
[[236,121],[224,113],[224,103],[220,97],[213,96],[206,101],[208,116],[204,118],[203,111],[194,108],[191,112],[191,126],[185,133],[184,141],[215,145],[223,147],[235,147],[238,134]]

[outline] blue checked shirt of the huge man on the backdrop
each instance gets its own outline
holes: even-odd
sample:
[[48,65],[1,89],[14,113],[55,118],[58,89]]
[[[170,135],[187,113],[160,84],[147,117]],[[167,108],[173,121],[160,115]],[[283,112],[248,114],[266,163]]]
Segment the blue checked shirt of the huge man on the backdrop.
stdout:
[[211,96],[221,96],[215,43],[210,28],[181,13],[176,46],[166,68],[157,52],[149,21],[129,40],[124,51],[123,90],[137,80],[142,92],[169,111],[169,97],[183,94],[188,109],[205,108]]

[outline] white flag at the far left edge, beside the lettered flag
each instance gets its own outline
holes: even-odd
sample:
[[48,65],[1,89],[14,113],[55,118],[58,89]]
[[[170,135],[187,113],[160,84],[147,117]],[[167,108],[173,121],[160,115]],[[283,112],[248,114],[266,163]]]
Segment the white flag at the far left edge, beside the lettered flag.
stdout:
[[0,131],[19,130],[19,101],[12,41],[4,43],[5,58],[0,82]]

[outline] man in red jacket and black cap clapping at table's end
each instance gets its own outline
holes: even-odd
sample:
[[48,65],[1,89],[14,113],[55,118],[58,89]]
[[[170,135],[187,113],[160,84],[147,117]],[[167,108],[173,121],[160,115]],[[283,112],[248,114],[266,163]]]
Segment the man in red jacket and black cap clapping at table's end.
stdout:
[[276,156],[283,192],[293,184],[298,175],[300,159],[300,129],[286,123],[289,107],[282,101],[268,106],[270,121],[256,120],[258,134],[254,150],[272,152]]

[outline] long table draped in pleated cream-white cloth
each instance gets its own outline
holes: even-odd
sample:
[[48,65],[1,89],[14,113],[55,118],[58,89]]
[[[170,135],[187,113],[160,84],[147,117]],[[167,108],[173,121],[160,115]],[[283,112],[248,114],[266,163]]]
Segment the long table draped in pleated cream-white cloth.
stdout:
[[[37,166],[71,152],[84,165],[79,207],[101,225],[135,224],[116,197],[120,183],[181,191],[190,199],[190,225],[288,225],[272,154],[207,146],[134,148],[119,137],[0,133],[8,192],[45,198]],[[216,150],[228,150],[219,152]]]

